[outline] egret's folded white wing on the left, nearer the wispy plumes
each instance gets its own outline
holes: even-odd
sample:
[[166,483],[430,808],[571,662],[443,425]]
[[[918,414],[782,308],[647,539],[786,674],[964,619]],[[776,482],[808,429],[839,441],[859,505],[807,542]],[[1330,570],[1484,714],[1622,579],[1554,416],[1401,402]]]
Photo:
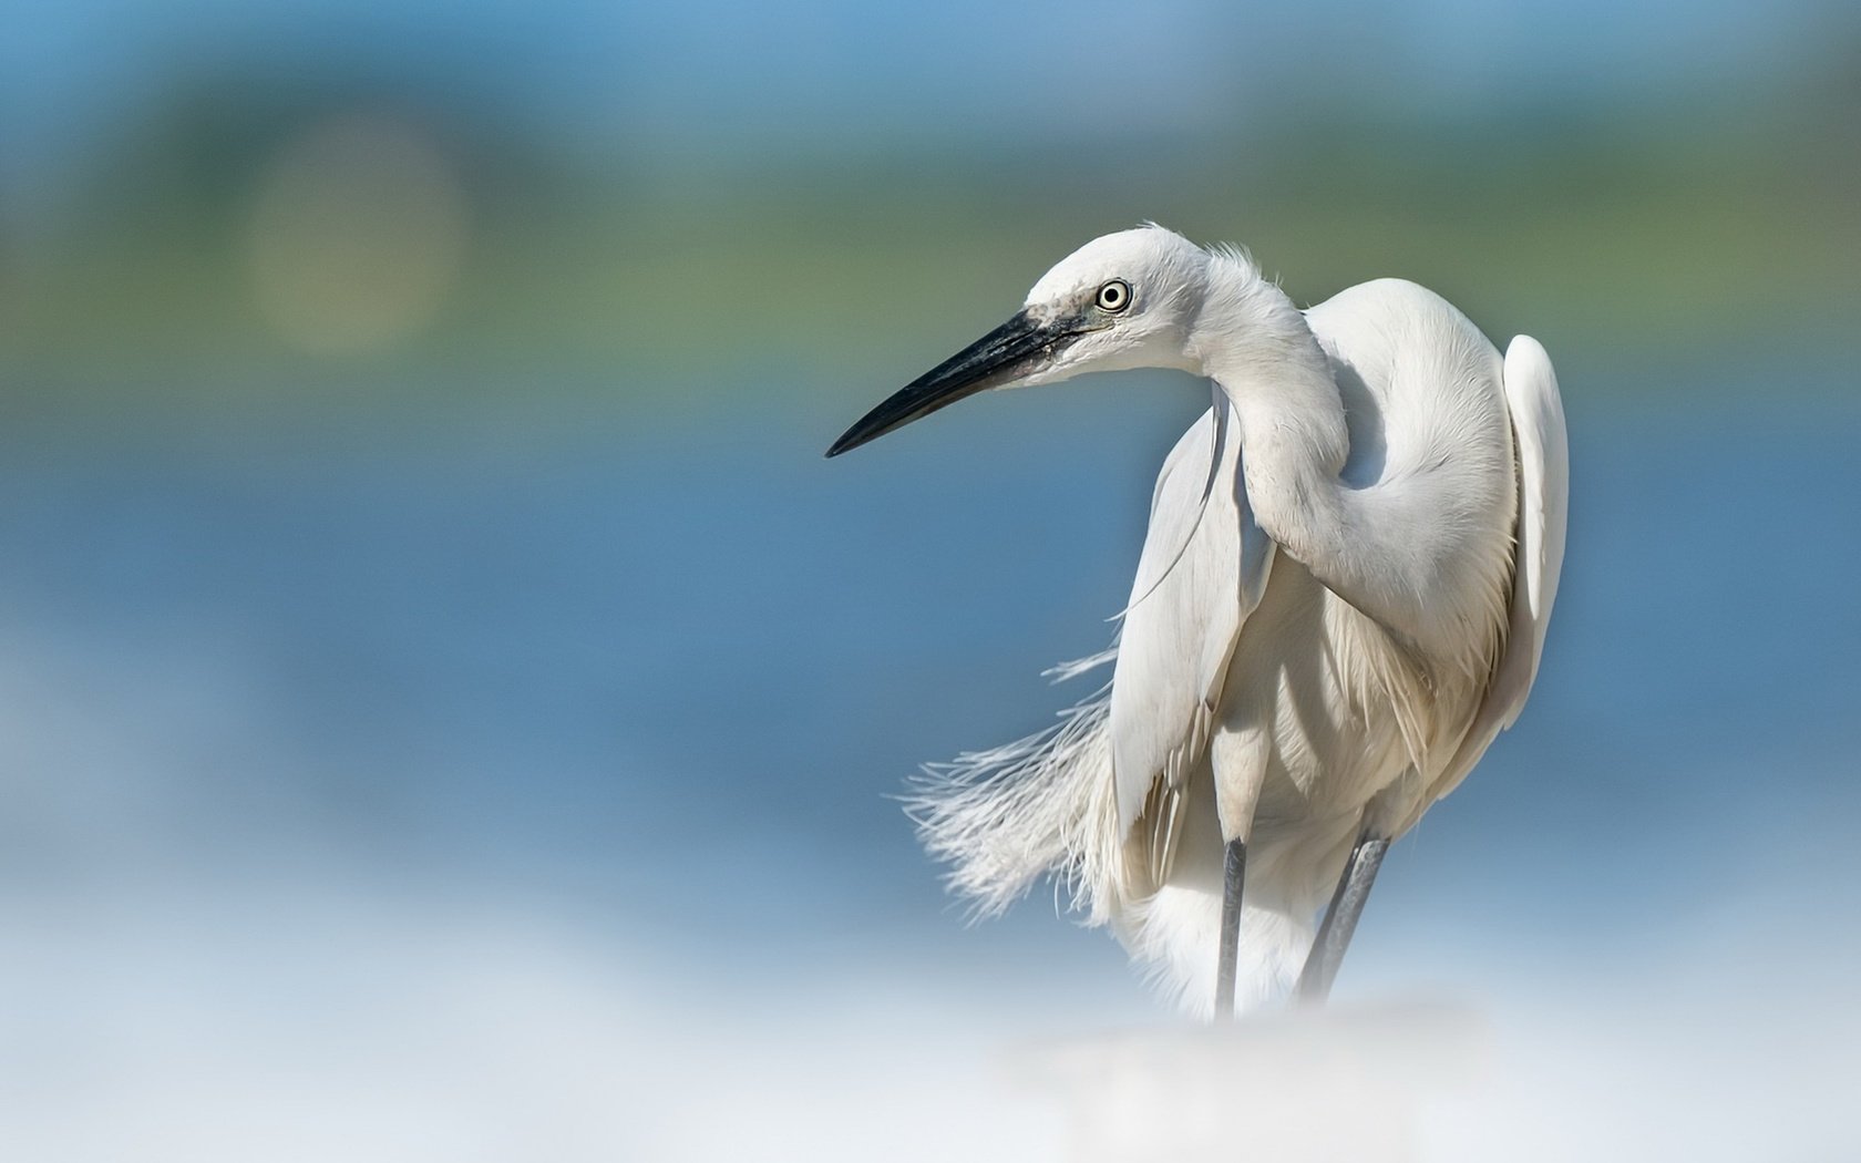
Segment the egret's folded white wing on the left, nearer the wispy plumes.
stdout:
[[1150,532],[1111,679],[1118,828],[1150,822],[1150,873],[1169,875],[1182,795],[1208,752],[1241,623],[1260,605],[1273,541],[1247,504],[1241,439],[1219,385],[1158,475]]

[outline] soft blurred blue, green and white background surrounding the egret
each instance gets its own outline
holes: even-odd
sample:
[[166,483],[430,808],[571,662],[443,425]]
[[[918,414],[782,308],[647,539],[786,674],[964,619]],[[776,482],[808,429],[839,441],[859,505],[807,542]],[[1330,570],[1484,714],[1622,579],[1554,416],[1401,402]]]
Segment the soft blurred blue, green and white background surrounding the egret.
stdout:
[[1398,1144],[1852,1157],[1857,61],[1837,0],[11,0],[7,1157],[1096,1133],[1029,1061],[1169,1016],[888,796],[1081,694],[1204,396],[821,450],[1139,220],[1558,361],[1539,690],[1338,988],[1450,1014]]

